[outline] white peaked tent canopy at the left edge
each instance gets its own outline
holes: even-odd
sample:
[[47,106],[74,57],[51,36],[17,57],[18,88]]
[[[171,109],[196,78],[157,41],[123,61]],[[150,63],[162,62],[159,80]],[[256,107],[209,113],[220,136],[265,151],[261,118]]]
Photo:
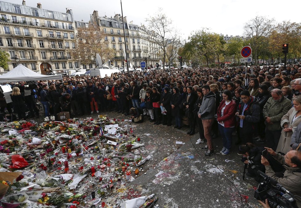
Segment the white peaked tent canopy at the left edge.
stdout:
[[43,75],[36,73],[27,67],[19,64],[11,71],[0,76],[0,83],[36,80],[61,80],[62,75]]

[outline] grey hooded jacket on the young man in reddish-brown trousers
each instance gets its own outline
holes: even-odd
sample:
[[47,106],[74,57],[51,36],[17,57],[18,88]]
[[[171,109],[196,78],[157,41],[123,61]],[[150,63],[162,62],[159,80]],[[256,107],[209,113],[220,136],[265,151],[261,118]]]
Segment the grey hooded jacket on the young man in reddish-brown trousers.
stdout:
[[215,116],[215,94],[209,92],[204,96],[202,105],[199,109],[198,115],[201,114],[201,119],[213,119]]

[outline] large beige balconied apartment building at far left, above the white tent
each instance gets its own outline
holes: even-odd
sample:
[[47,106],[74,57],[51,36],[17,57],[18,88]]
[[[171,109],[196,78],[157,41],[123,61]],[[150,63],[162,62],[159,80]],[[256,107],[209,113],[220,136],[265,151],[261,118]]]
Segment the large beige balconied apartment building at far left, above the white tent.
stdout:
[[[57,12],[0,1],[0,50],[10,54],[9,71],[22,64],[45,74],[79,68],[72,60],[74,18],[72,10]],[[18,58],[18,62],[16,61]]]

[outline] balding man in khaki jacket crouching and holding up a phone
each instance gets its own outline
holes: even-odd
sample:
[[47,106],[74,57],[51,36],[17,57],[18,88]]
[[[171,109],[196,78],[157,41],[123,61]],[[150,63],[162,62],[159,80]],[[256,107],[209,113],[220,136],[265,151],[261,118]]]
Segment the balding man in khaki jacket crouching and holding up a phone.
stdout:
[[[265,166],[265,173],[277,183],[282,185],[285,189],[294,195],[297,206],[301,207],[301,151],[291,150],[286,155],[276,153],[271,148],[265,147],[267,152],[273,156],[279,163],[286,169],[283,178],[276,176],[275,171],[272,169],[269,161],[261,156],[261,163]],[[266,202],[260,202],[264,207],[270,207]]]

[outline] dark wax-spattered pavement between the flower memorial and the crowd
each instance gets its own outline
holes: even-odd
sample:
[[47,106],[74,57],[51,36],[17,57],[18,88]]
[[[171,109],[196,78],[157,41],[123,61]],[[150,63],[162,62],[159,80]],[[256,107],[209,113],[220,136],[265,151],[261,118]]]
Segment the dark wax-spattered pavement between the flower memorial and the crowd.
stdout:
[[[128,118],[115,112],[107,116]],[[132,125],[133,134],[145,144],[133,153],[151,155],[151,159],[137,177],[133,175],[135,180],[130,186],[142,195],[156,194],[158,207],[259,207],[253,198],[256,181],[247,176],[242,180],[243,163],[236,153],[238,146],[232,147],[231,154],[221,155],[221,139],[214,139],[216,153],[206,158],[205,151],[201,150],[205,143],[195,145],[199,136],[187,135],[187,127],[177,130],[153,125],[147,119],[142,124]],[[176,141],[184,144],[176,144]],[[227,163],[225,159],[234,162]]]

